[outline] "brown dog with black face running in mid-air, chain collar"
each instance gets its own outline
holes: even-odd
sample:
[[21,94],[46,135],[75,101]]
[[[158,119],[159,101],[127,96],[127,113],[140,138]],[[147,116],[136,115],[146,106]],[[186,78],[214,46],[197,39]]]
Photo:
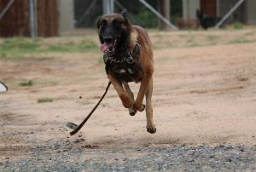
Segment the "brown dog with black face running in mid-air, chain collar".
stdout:
[[[131,26],[125,10],[121,14],[103,15],[97,20],[96,26],[109,81],[125,108],[129,108],[131,116],[146,108],[147,131],[154,134],[156,129],[151,105],[154,62],[148,33],[140,26]],[[136,100],[129,82],[141,83]],[[146,106],[143,105],[144,95]]]

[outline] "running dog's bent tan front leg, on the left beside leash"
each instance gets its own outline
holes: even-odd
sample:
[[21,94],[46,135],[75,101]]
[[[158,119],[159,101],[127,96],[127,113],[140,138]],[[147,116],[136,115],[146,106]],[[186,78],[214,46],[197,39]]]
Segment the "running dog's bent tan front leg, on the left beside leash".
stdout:
[[114,89],[116,89],[119,98],[122,100],[123,106],[125,106],[125,108],[131,108],[134,101],[131,100],[130,95],[125,92],[122,83],[120,83],[115,77],[113,77],[112,74],[108,74],[108,79],[113,84]]

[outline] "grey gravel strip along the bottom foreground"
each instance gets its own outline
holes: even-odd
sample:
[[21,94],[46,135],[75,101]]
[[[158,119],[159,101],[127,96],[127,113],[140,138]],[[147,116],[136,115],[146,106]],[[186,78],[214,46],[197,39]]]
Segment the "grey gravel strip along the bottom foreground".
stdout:
[[[256,171],[256,146],[154,145],[103,149],[81,139],[37,146],[0,171]],[[80,144],[76,146],[76,144]]]

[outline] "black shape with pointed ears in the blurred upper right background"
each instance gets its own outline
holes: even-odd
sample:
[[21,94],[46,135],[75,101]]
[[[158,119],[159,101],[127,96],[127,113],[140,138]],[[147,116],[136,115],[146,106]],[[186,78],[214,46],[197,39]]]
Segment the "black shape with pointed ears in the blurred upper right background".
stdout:
[[204,14],[202,10],[196,9],[196,17],[200,22],[200,25],[204,29],[208,29],[209,27],[216,26],[218,21],[221,20],[220,17],[215,17],[211,15]]

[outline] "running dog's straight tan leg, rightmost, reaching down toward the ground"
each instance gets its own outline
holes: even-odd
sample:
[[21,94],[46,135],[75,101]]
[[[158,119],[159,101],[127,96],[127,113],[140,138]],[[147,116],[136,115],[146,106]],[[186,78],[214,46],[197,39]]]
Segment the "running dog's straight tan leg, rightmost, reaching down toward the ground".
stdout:
[[147,118],[147,131],[150,134],[154,134],[156,132],[154,122],[153,122],[153,108],[151,103],[153,92],[153,79],[151,77],[148,83],[148,90],[146,92],[146,118]]

